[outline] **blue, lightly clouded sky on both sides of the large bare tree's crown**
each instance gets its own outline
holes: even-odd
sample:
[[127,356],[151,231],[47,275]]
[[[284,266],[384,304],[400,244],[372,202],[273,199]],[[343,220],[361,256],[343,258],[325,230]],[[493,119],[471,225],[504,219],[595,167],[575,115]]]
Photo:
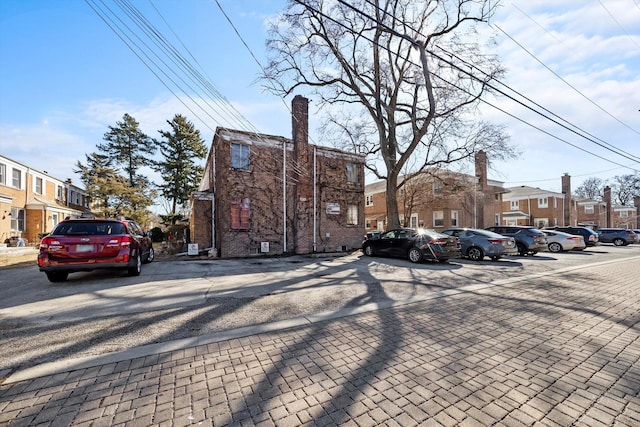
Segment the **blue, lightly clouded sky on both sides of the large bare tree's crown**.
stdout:
[[[177,76],[161,79],[158,68],[145,65],[162,63],[130,48],[151,43],[148,38],[112,30],[131,26],[119,5],[135,6],[211,83],[209,90]],[[258,78],[266,65],[266,22],[285,5],[1,0],[0,154],[80,184],[74,164],[125,113],[154,138],[180,113],[207,147],[217,126],[290,137],[291,99],[272,95]],[[112,12],[122,21],[113,21]],[[491,162],[490,179],[560,192],[565,173],[575,189],[590,177],[607,181],[640,171],[640,0],[502,0],[480,35],[489,34],[496,36],[492,53],[507,70],[502,83],[547,116],[508,98],[493,103],[504,111],[481,106],[519,152]],[[311,98],[311,139],[322,144],[310,92],[297,94]]]

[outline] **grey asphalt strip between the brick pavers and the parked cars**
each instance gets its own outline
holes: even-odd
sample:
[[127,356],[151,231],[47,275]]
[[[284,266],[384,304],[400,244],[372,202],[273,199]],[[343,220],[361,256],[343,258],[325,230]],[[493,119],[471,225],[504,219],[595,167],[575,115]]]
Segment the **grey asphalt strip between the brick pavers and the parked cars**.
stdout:
[[[367,304],[402,304],[640,256],[600,245],[500,261],[411,264],[343,256],[153,262],[139,277],[95,271],[52,284],[35,266],[0,277],[0,371]],[[640,264],[640,261],[639,261]],[[37,342],[39,345],[34,346]]]

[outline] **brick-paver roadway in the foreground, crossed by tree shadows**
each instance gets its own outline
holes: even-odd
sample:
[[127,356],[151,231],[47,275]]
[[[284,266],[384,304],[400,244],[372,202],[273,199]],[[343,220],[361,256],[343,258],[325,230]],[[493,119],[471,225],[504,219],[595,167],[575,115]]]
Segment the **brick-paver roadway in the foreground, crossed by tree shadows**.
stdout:
[[34,366],[0,385],[0,425],[638,426],[639,271],[592,263]]

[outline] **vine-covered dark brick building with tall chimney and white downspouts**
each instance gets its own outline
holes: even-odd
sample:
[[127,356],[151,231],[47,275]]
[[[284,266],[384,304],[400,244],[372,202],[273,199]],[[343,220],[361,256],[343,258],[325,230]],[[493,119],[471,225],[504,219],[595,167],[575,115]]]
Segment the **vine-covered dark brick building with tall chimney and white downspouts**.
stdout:
[[192,197],[199,248],[228,258],[360,247],[365,158],[309,144],[308,101],[292,107],[292,139],[216,129]]

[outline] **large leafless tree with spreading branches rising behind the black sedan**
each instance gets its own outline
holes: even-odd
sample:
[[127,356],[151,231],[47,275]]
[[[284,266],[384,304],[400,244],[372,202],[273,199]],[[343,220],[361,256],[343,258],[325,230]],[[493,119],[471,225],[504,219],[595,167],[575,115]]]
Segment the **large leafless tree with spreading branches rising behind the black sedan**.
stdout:
[[479,150],[494,159],[513,154],[502,127],[482,121],[477,108],[504,72],[475,36],[497,4],[290,0],[272,25],[271,90],[286,96],[311,88],[318,107],[328,107],[323,136],[366,154],[367,169],[386,180],[391,228],[399,226],[401,173],[469,160]]

